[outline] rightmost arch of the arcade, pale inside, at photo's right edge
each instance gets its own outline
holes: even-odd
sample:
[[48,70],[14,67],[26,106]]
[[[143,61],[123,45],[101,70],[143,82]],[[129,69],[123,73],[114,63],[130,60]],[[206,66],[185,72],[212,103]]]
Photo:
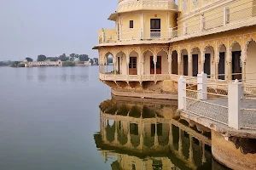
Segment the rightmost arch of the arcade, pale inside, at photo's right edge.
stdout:
[[256,42],[252,40],[247,43],[247,65],[245,68],[246,73],[249,73],[246,76],[247,82],[252,84],[256,83],[256,80],[253,80],[255,79],[255,75],[256,75],[255,55],[256,55]]

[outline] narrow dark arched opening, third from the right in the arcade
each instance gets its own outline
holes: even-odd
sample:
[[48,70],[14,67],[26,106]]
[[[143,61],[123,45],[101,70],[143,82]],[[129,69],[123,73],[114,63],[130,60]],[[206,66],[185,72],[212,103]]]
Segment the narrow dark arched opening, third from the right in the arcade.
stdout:
[[218,53],[218,79],[225,80],[226,47],[224,46],[224,44],[219,46]]

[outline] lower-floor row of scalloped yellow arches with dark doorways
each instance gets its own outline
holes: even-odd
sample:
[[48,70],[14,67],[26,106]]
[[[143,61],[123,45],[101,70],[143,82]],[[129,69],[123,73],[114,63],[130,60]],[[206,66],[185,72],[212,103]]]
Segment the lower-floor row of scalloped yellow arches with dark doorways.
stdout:
[[[256,73],[253,66],[256,33],[248,32],[230,37],[223,34],[212,38],[211,35],[211,39],[201,41],[171,42],[170,46],[149,44],[100,48],[100,73],[107,74],[104,68],[108,65],[108,56],[112,55],[113,75],[153,75],[152,80],[156,82],[156,75],[196,77],[204,71],[212,79],[252,82],[252,73]],[[144,81],[143,78],[140,81]]]

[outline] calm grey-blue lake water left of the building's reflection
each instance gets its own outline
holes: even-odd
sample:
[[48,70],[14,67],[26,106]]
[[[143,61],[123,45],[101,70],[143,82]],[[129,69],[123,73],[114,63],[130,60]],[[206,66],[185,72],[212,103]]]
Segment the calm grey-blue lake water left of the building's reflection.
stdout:
[[0,169],[119,169],[96,146],[99,105],[111,99],[98,67],[0,67],[0,80]]

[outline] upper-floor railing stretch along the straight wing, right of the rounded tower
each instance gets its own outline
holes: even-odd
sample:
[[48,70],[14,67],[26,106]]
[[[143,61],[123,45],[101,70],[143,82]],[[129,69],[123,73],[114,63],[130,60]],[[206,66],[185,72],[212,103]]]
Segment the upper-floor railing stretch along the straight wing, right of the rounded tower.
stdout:
[[[189,22],[184,22],[183,26],[178,26],[172,29],[172,38],[183,37],[183,36],[193,36],[199,32],[207,32],[212,29],[221,29],[225,26],[242,26],[242,23],[247,22],[256,16],[256,4],[254,1],[244,1],[236,0],[234,3],[239,2],[237,6],[232,8],[224,7],[222,10],[218,10],[213,14],[198,15],[200,19],[191,20]],[[209,11],[211,12],[211,11]],[[230,28],[231,29],[231,28]]]

